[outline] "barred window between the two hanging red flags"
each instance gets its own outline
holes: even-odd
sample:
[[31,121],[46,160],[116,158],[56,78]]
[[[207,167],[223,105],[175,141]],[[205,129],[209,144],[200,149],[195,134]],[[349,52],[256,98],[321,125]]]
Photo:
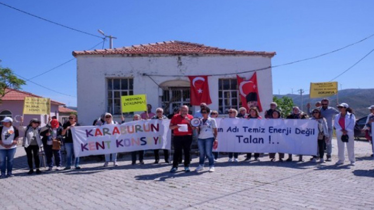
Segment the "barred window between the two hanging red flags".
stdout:
[[238,109],[240,100],[237,90],[236,79],[219,79],[218,80],[218,112],[227,114],[230,108]]

